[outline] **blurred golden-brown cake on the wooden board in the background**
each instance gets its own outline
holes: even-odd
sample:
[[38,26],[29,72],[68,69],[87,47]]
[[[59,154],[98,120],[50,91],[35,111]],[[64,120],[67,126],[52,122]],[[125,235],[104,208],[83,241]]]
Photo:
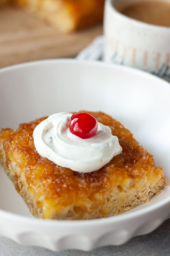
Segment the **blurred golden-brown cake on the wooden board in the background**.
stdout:
[[24,7],[64,32],[102,21],[104,0],[0,0],[1,5]]

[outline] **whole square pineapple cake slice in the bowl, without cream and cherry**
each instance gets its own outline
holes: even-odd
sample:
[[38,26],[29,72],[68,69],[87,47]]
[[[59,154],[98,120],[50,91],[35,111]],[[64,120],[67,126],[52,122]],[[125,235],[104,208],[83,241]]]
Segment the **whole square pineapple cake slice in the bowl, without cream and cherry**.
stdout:
[[123,151],[100,170],[86,174],[57,166],[38,154],[32,133],[47,117],[20,124],[18,130],[1,130],[0,161],[34,216],[108,217],[149,201],[166,185],[164,171],[155,168],[153,156],[129,130],[102,112],[88,113],[110,126]]

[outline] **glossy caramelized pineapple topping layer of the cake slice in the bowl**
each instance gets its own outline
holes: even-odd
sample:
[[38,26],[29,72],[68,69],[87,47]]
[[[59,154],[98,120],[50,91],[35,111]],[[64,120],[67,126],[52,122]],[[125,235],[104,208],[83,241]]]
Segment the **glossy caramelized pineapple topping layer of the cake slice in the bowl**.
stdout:
[[[112,134],[119,138],[123,149],[110,163],[91,173],[82,174],[60,167],[38,154],[32,133],[47,117],[20,124],[17,130],[1,130],[0,141],[3,141],[4,145],[6,167],[12,161],[22,169],[28,189],[33,194],[34,202],[42,209],[44,218],[51,219],[56,212],[60,218],[60,211],[62,214],[64,211],[67,212],[71,205],[74,205],[74,213],[78,213],[80,219],[81,212],[84,216],[84,212],[88,212],[89,208],[92,212],[100,207],[102,217],[108,216],[109,209],[103,202],[103,197],[108,191],[119,193],[121,200],[121,191],[134,189],[134,186],[138,188],[141,182],[147,182],[152,186],[164,176],[161,167],[155,168],[153,156],[138,144],[132,133],[122,124],[102,112],[86,113],[93,115],[102,124],[110,126]],[[0,157],[2,158],[1,155]],[[166,178],[163,178],[165,186]],[[15,187],[19,192],[20,189]],[[120,208],[118,213],[124,210],[127,209]]]

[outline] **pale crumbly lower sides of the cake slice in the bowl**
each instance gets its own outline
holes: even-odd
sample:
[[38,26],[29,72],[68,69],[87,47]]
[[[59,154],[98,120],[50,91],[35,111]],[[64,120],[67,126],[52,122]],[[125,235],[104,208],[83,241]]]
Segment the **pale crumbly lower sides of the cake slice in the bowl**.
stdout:
[[[34,217],[43,218],[43,209],[38,207],[36,202],[34,201],[33,193],[28,188],[28,184],[26,182],[26,178],[22,172],[22,170],[17,167],[17,163],[11,161],[8,167],[6,167],[6,156],[5,151],[3,148],[3,144],[0,145],[0,152],[2,154],[2,158],[0,158],[0,163],[2,163],[2,166],[4,167],[4,170],[6,172],[6,175],[11,179],[13,182],[15,189],[17,192],[21,195],[23,200],[26,202],[30,212]],[[153,195],[158,195],[161,193],[163,187],[166,185],[166,178],[164,176],[161,176],[159,182],[153,186],[149,186],[145,184],[143,187],[144,189],[135,191],[136,194],[133,194],[133,190],[131,191],[130,200],[124,199],[124,202],[126,202],[126,205],[120,205],[119,202],[117,204],[117,207],[113,208],[114,202],[117,202],[119,198],[116,197],[116,194],[113,193],[110,195],[110,197],[107,198],[106,196],[103,197],[103,202],[106,204],[106,208],[112,208],[113,210],[110,212],[110,214],[101,214],[100,209],[96,209],[96,211],[93,214],[85,213],[83,218],[79,215],[77,215],[74,212],[74,205],[66,207],[63,212],[60,211],[59,213],[56,212],[52,219],[96,219],[96,218],[102,218],[102,217],[110,217],[113,215],[117,215],[118,213],[123,213],[127,210],[130,210],[144,202],[149,202],[151,197]],[[136,188],[135,188],[136,189]],[[134,189],[134,190],[135,190]],[[130,190],[129,190],[130,193]],[[129,195],[128,191],[126,192],[126,197]],[[105,216],[106,215],[106,216]]]

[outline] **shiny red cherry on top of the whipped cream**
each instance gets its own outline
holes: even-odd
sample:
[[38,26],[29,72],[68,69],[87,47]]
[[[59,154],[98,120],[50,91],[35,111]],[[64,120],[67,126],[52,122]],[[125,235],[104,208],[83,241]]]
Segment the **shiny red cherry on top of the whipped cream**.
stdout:
[[73,114],[69,124],[70,132],[82,139],[87,139],[96,134],[98,121],[87,113]]

